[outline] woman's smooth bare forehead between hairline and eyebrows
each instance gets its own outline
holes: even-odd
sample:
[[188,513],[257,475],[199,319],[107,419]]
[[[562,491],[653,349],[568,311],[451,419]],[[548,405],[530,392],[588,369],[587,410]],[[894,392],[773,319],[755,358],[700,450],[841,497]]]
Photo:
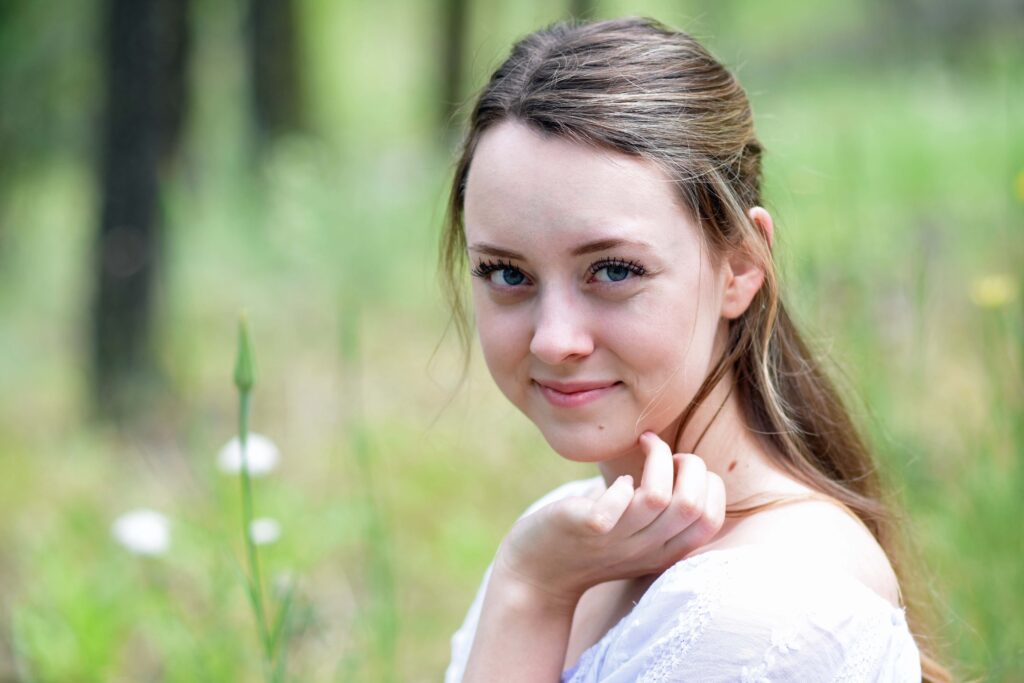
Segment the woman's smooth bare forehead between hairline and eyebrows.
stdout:
[[596,236],[669,246],[696,239],[671,178],[653,162],[513,121],[480,137],[464,209],[470,242],[554,246]]

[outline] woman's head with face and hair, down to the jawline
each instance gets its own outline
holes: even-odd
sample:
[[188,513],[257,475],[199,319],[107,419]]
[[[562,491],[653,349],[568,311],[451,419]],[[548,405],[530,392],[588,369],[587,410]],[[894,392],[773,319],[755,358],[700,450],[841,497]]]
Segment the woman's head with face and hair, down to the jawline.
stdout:
[[[766,215],[760,225],[749,215],[760,202],[760,158],[750,104],[735,78],[695,40],[649,19],[557,25],[520,41],[495,72],[473,110],[457,166],[442,261],[457,316],[467,247],[476,274],[481,265],[504,264],[526,276],[515,288],[517,301],[494,287],[505,271],[477,279],[477,324],[495,379],[557,451],[603,459],[609,449],[629,447],[645,429],[663,431],[675,422],[681,430],[688,409],[739,355],[755,347],[767,352],[776,300],[771,225]],[[566,256],[587,242],[630,231],[655,242],[654,248]],[[647,240],[645,231],[657,240]],[[474,252],[467,241],[528,258],[501,260],[495,250]],[[602,257],[636,261],[647,272],[626,275],[636,284],[577,287],[569,305],[568,290],[558,289],[554,273],[583,278]],[[543,274],[531,270],[542,266]],[[737,287],[740,305],[722,310]],[[532,319],[526,321],[523,291],[530,289],[543,290],[545,298],[531,299]],[[609,303],[609,297],[627,297],[627,290],[638,296]],[[563,297],[560,305],[556,296]],[[530,326],[527,343],[521,333]],[[542,352],[520,358],[515,372],[509,367],[512,348],[543,351],[549,333],[571,335],[571,326],[584,343],[629,336],[634,354],[649,362],[641,369],[624,360],[616,372],[597,357],[599,345],[586,364],[555,362]],[[666,336],[646,339],[657,333]],[[658,353],[658,344],[675,353]],[[538,419],[545,412],[530,410],[538,400],[551,408],[531,380],[617,381],[622,394],[631,379],[634,400],[617,413],[613,428],[591,420],[596,405],[593,413],[563,411],[560,417],[579,415],[589,425],[573,426],[569,438],[546,429],[552,424]],[[592,439],[579,440],[581,429],[589,429]]]

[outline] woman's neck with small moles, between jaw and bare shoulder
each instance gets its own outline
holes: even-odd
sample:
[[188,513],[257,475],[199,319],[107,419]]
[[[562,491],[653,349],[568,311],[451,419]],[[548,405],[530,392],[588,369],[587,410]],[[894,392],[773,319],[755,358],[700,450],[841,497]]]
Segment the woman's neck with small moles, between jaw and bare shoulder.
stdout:
[[[708,398],[696,409],[689,424],[676,438],[679,420],[673,421],[658,435],[674,453],[695,453],[710,472],[725,482],[726,504],[763,494],[777,477],[785,477],[772,466],[768,447],[748,427],[732,374],[722,378]],[[613,460],[598,463],[606,484],[624,474],[633,476],[634,485],[643,479],[644,455],[639,444]]]

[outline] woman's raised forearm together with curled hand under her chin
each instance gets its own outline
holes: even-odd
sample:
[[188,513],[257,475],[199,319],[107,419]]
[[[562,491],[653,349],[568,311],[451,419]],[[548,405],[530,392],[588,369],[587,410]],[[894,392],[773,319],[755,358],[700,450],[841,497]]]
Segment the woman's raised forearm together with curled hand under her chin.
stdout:
[[725,485],[694,455],[640,437],[643,480],[562,499],[512,527],[498,551],[463,681],[557,681],[577,603],[591,586],[666,569],[725,519]]

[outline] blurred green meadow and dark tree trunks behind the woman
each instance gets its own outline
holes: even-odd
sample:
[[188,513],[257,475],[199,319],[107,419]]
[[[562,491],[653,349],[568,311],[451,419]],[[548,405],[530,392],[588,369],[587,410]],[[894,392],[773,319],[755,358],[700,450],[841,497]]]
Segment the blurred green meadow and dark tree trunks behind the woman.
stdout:
[[[502,535],[593,473],[478,352],[459,383],[455,144],[516,38],[627,14],[738,73],[784,292],[903,506],[945,660],[1024,681],[1015,0],[0,1],[0,681],[260,679],[218,461],[243,309],[290,680],[441,678]],[[164,520],[141,545],[112,532],[137,509]]]

